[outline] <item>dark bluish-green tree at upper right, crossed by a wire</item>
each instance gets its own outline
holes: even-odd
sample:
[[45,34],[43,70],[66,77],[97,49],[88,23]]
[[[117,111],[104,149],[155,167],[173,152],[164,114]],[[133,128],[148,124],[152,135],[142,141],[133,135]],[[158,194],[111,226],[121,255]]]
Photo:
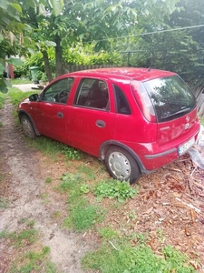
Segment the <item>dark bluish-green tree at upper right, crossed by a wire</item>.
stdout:
[[124,43],[121,47],[134,52],[130,65],[175,71],[193,88],[202,86],[204,27],[194,26],[203,24],[204,2],[180,0],[176,9],[160,21],[143,19],[138,25],[141,35],[129,38],[128,46]]

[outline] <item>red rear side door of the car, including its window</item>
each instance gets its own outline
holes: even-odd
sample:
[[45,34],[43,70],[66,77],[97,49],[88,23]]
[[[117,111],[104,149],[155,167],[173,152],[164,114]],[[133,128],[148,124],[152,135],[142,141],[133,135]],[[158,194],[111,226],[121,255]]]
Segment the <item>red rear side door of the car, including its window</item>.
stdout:
[[99,157],[102,143],[112,139],[114,114],[110,112],[110,88],[106,80],[83,78],[73,106],[69,106],[68,126],[72,146],[95,157]]

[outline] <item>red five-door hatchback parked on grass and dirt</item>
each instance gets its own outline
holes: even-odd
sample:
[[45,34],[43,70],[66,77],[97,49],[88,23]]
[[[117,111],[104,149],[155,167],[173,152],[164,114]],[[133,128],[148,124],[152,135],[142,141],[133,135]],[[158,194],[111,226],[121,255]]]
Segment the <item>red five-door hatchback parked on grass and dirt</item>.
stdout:
[[57,77],[17,109],[24,134],[49,136],[135,181],[186,153],[199,121],[195,96],[175,73],[103,68]]

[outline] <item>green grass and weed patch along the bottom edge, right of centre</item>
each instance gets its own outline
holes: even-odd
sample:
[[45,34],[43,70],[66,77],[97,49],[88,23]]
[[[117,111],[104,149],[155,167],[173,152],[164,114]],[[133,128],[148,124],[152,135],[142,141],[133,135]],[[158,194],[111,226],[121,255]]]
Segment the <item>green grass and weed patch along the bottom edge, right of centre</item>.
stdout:
[[[111,244],[112,243],[112,244]],[[176,251],[176,250],[174,250]],[[151,248],[139,245],[132,248],[124,240],[105,242],[101,248],[83,257],[83,268],[100,270],[102,273],[192,273],[195,270],[177,252],[177,258],[159,258]]]

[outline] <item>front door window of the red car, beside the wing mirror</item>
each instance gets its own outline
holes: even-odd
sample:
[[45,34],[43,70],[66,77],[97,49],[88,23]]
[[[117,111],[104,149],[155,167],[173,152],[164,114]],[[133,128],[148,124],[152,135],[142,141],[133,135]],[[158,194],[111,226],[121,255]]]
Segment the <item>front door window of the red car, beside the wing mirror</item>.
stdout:
[[47,102],[66,104],[73,86],[73,77],[63,78],[44,90],[42,100]]

